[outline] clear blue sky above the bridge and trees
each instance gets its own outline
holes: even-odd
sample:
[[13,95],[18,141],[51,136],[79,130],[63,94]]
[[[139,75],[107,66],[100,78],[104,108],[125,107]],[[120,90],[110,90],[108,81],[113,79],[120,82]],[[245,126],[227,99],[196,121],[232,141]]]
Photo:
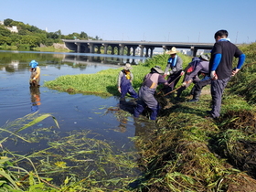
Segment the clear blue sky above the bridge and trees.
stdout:
[[256,41],[255,0],[1,0],[11,18],[48,32],[104,40],[214,43],[219,29],[234,43]]

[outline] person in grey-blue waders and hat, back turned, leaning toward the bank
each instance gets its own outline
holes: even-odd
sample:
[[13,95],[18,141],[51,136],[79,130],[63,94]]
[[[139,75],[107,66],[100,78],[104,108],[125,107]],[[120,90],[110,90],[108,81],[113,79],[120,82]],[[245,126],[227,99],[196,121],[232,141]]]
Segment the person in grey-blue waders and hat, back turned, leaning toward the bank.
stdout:
[[155,90],[158,84],[163,83],[167,85],[168,82],[164,79],[162,75],[164,71],[159,66],[155,66],[155,68],[150,70],[150,73],[145,75],[144,82],[139,90],[139,100],[137,101],[133,116],[139,117],[147,106],[152,110],[150,119],[156,120],[156,116],[160,108],[158,101],[156,101],[154,97]]

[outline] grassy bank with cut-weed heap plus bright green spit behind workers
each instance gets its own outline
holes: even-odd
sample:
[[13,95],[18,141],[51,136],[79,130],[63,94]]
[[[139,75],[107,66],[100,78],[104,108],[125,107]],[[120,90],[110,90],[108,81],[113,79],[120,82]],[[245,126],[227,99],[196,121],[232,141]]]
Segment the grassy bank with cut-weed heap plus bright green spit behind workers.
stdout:
[[[182,101],[170,101],[169,107],[161,112],[158,129],[135,138],[141,149],[140,162],[144,170],[144,176],[132,185],[135,191],[255,189],[256,44],[241,49],[247,55],[246,63],[229,82],[218,121],[205,118],[210,109],[209,94],[202,95],[197,103],[190,103],[187,102],[188,91],[184,91]],[[139,89],[151,67],[165,68],[167,57],[156,56],[133,67],[133,87]],[[190,58],[183,59],[186,66]],[[59,77],[46,85],[59,91],[118,95],[116,76],[119,70]]]

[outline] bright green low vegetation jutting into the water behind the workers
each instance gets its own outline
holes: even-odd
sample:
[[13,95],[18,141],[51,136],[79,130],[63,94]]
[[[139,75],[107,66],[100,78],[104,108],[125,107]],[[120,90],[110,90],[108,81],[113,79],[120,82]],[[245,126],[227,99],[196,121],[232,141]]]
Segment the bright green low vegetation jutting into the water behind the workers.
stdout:
[[[133,88],[135,91],[139,90],[144,76],[150,72],[150,69],[155,67],[155,65],[165,69],[168,57],[169,55],[166,54],[158,55],[152,59],[147,59],[144,63],[133,66]],[[180,57],[184,60],[185,68],[191,58],[184,55],[180,55]],[[119,69],[102,70],[96,74],[60,76],[56,80],[46,81],[44,85],[49,89],[68,91],[69,93],[95,94],[102,97],[119,95],[117,91],[117,77],[122,69],[123,67]]]

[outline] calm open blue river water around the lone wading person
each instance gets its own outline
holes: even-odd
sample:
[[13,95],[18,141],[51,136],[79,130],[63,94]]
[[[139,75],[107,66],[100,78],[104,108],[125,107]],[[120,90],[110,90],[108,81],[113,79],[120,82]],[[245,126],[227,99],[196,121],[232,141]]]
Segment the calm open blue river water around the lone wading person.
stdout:
[[[28,84],[28,64],[32,59],[37,60],[41,69],[41,86],[34,92]],[[0,127],[37,111],[39,114],[50,113],[56,117],[60,132],[90,130],[101,134],[102,140],[131,147],[133,143],[128,137],[133,137],[144,126],[134,123],[132,115],[123,121],[116,118],[114,112],[107,112],[108,108],[119,106],[119,98],[49,90],[44,87],[44,81],[55,80],[62,75],[92,74],[104,69],[116,69],[126,62],[135,65],[144,59],[95,54],[0,51]],[[47,119],[37,126],[48,127],[53,124],[51,119]],[[31,146],[22,147],[22,150],[19,149],[21,151],[14,144],[9,147],[21,154],[31,153],[32,150]],[[33,150],[36,150],[35,146]]]

